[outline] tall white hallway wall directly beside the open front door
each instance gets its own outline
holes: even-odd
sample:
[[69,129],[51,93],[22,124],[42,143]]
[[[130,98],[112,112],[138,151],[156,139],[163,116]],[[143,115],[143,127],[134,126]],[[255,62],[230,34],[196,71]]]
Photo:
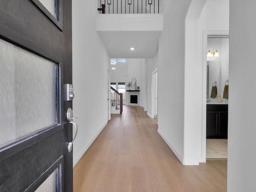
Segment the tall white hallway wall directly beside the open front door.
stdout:
[[78,117],[74,165],[107,124],[110,58],[96,32],[96,14],[95,0],[72,0],[73,114]]

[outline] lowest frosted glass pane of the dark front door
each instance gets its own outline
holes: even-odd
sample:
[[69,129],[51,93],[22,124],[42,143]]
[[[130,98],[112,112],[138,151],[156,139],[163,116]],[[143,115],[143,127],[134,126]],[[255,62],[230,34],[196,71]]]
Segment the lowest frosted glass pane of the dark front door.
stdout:
[[59,192],[58,168],[35,190],[35,192]]

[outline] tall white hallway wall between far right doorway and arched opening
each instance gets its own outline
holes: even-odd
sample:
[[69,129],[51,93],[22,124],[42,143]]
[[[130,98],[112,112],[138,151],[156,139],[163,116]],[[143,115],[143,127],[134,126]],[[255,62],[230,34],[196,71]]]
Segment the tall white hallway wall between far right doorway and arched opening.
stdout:
[[164,0],[158,43],[158,133],[183,163],[185,16],[190,0]]

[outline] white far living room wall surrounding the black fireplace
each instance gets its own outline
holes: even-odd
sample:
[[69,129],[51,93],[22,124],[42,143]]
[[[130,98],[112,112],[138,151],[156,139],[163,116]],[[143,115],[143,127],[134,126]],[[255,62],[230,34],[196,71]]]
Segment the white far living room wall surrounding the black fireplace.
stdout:
[[[112,66],[111,66],[112,67]],[[140,106],[146,110],[146,62],[145,59],[126,59],[126,63],[117,63],[114,65],[115,70],[111,70],[110,82],[125,82],[126,90],[128,82],[131,82],[132,78],[136,78],[136,84],[140,87]],[[128,94],[126,94],[128,95]],[[128,98],[126,98],[125,104],[128,105]]]

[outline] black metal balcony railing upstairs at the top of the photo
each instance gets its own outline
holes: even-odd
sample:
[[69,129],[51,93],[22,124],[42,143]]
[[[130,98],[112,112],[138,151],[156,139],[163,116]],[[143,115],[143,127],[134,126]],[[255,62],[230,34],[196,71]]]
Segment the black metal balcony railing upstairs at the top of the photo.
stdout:
[[99,14],[159,14],[159,0],[98,0]]

